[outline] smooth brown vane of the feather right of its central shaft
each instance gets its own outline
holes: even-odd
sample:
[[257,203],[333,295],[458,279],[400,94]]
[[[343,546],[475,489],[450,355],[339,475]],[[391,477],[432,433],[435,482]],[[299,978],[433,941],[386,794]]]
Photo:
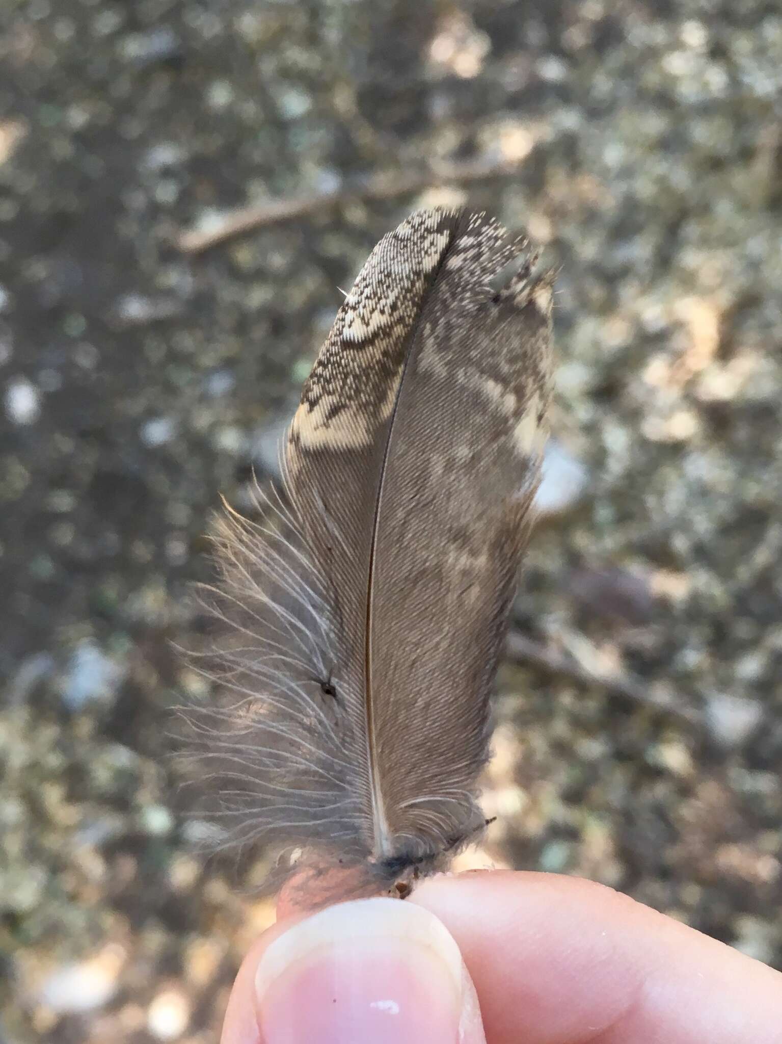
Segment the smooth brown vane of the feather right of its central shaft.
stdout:
[[419,319],[376,520],[377,775],[394,848],[411,855],[482,822],[489,694],[551,393],[551,309],[533,295],[549,277],[495,222],[468,215],[463,228]]

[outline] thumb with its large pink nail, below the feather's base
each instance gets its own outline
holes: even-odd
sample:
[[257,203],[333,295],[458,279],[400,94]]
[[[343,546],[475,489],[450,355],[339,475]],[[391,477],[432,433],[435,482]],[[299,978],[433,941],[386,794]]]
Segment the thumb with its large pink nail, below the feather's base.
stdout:
[[459,948],[421,906],[329,906],[262,941],[248,959],[221,1044],[486,1042]]

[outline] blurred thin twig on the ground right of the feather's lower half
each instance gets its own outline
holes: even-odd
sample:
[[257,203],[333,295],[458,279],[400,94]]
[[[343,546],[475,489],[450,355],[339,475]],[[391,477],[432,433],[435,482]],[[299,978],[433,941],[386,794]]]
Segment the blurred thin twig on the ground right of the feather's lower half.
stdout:
[[598,686],[612,696],[619,696],[671,714],[689,726],[699,729],[703,727],[703,716],[698,708],[688,704],[682,696],[674,692],[656,691],[641,679],[627,672],[615,674],[592,670],[573,657],[536,642],[518,631],[512,631],[508,635],[505,651],[508,659],[516,663],[540,667],[551,674],[560,674],[579,685]]

